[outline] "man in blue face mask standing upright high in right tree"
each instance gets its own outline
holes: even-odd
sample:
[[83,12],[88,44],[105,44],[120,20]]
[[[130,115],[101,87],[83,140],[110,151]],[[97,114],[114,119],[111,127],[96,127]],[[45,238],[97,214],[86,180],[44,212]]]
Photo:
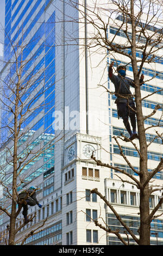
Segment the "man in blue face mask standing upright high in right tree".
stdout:
[[[118,75],[112,73],[112,66],[114,62],[111,62],[109,66],[109,78],[115,86],[115,96],[117,99],[115,103],[117,104],[118,116],[122,117],[124,126],[126,127],[130,138],[124,139],[125,141],[134,140],[139,138],[136,133],[136,108],[133,100],[133,95],[130,92],[130,86],[135,87],[134,81],[126,76],[126,66],[123,64],[118,65],[117,72]],[[143,84],[144,75],[140,77],[140,86]],[[128,118],[130,117],[131,126],[133,132],[131,131]]]

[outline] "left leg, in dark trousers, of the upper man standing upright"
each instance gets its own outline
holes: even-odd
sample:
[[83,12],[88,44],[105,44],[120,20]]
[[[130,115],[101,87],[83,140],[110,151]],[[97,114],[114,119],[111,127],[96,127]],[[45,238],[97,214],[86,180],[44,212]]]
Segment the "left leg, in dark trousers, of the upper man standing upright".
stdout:
[[118,116],[122,117],[124,126],[126,127],[129,135],[131,136],[132,132],[131,132],[130,124],[128,121],[129,110],[128,110],[127,103],[117,103],[117,112],[118,112]]

